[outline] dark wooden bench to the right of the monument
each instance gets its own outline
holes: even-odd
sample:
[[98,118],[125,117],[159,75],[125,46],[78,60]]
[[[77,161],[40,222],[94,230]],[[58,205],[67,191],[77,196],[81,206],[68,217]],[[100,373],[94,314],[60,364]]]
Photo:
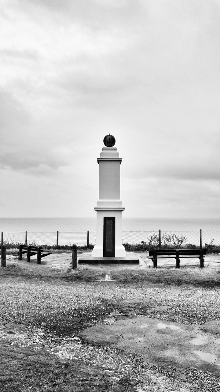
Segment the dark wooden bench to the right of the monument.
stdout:
[[206,249],[152,249],[149,250],[148,259],[153,261],[153,268],[157,268],[157,259],[176,259],[176,268],[180,268],[180,258],[197,257],[200,267],[204,267]]

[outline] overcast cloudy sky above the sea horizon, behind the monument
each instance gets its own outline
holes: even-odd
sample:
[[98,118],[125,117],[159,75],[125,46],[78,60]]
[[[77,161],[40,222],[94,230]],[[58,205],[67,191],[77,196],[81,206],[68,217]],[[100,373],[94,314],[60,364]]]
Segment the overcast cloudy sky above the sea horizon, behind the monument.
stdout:
[[220,0],[2,0],[0,216],[220,217]]

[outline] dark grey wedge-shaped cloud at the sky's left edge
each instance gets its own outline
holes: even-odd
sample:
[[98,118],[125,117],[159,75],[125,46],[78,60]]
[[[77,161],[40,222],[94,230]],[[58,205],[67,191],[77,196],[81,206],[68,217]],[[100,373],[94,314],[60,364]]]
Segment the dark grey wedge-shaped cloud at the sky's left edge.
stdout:
[[[67,165],[64,154],[49,140],[45,143],[44,130],[33,124],[30,114],[11,94],[0,91],[1,154],[0,167],[15,171],[39,171],[50,175],[51,170]],[[34,129],[33,129],[34,127]],[[31,130],[31,132],[30,132]],[[45,135],[46,136],[46,135]],[[49,135],[48,135],[49,136]]]

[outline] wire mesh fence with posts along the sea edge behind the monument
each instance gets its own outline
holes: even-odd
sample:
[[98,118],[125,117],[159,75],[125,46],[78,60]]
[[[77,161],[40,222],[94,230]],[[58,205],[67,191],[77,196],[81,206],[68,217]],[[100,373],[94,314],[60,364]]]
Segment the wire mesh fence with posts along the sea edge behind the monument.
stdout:
[[[73,245],[80,246],[95,245],[96,232],[21,232],[21,233],[3,233],[2,245],[7,244],[27,244],[27,245],[48,245],[62,246]],[[202,247],[205,244],[220,245],[220,230],[197,230],[197,231],[124,231],[123,243],[141,244],[146,243],[149,246],[181,246],[195,245]]]

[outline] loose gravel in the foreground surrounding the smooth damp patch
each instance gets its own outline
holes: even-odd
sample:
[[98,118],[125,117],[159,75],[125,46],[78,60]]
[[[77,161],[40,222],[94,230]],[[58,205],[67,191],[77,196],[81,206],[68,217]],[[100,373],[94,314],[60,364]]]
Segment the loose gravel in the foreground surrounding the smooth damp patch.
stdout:
[[195,368],[177,372],[143,365],[137,356],[92,346],[77,337],[81,329],[94,323],[108,323],[112,312],[119,317],[141,314],[185,324],[219,320],[219,289],[38,279],[2,279],[0,289],[0,336],[9,345],[46,349],[65,361],[82,360],[109,377],[132,379],[138,392],[220,391],[219,376]]

